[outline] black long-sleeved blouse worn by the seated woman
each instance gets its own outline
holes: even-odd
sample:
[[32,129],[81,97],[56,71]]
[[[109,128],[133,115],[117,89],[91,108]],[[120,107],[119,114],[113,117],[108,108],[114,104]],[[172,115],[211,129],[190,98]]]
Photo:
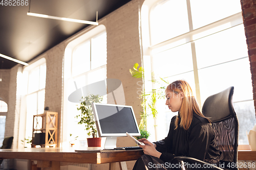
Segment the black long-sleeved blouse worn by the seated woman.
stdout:
[[221,152],[215,144],[215,133],[208,120],[194,113],[188,130],[180,126],[175,130],[177,117],[172,118],[167,137],[154,142],[157,151],[162,153],[160,159],[169,162],[175,156],[187,156],[208,163],[219,162]]

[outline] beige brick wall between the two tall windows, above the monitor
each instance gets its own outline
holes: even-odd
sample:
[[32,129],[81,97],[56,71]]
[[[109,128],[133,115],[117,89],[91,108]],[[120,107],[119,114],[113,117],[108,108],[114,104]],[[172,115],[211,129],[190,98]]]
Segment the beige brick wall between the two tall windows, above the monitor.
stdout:
[[[132,1],[106,17],[108,45],[107,78],[122,81],[125,105],[136,110],[137,122],[140,116],[140,99],[137,94],[139,79],[131,76],[129,69],[135,63],[141,66],[141,49],[139,40],[139,5]],[[137,98],[138,97],[138,98]]]

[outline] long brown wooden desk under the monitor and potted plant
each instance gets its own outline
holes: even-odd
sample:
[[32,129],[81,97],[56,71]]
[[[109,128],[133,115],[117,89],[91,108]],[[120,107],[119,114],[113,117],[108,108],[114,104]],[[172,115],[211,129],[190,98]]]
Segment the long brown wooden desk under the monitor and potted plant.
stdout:
[[78,163],[110,163],[110,169],[115,169],[115,162],[119,162],[120,168],[125,169],[124,161],[137,160],[142,155],[142,150],[75,152],[61,148],[0,149],[2,159],[37,160],[37,167],[53,170],[59,170],[61,165]]

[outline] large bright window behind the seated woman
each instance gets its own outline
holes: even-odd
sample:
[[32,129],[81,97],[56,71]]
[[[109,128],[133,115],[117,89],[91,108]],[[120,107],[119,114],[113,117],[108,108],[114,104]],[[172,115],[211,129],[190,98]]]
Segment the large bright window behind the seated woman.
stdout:
[[[248,144],[246,131],[256,120],[240,1],[145,2],[142,33],[147,32],[150,37],[150,53],[146,53],[150,55],[143,56],[144,67],[150,69],[145,71],[152,71],[156,79],[161,77],[169,83],[185,79],[200,107],[209,95],[234,86],[233,103],[240,123],[239,144]],[[153,84],[153,87],[166,85]],[[152,85],[145,88],[150,91]],[[157,109],[156,122],[148,123],[148,130],[153,132],[152,140],[167,135],[170,119],[177,114],[168,110],[165,99],[158,100]]]

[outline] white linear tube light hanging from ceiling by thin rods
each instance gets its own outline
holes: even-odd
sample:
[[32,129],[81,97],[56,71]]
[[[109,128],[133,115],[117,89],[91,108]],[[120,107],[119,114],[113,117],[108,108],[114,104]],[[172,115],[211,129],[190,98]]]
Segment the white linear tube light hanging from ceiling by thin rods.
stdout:
[[[31,2],[31,0],[30,0],[30,2]],[[65,21],[77,22],[77,23],[85,23],[85,24],[95,25],[95,26],[99,25],[99,23],[98,23],[98,11],[96,12],[96,22],[94,22],[94,21],[87,21],[87,20],[64,18],[64,17],[58,17],[58,16],[32,13],[32,12],[30,12],[30,4],[31,3],[29,3],[29,12],[27,13],[27,15],[29,15],[29,16],[35,16],[35,17],[40,17],[40,18],[49,18],[49,19],[57,19],[57,20],[65,20]]]

